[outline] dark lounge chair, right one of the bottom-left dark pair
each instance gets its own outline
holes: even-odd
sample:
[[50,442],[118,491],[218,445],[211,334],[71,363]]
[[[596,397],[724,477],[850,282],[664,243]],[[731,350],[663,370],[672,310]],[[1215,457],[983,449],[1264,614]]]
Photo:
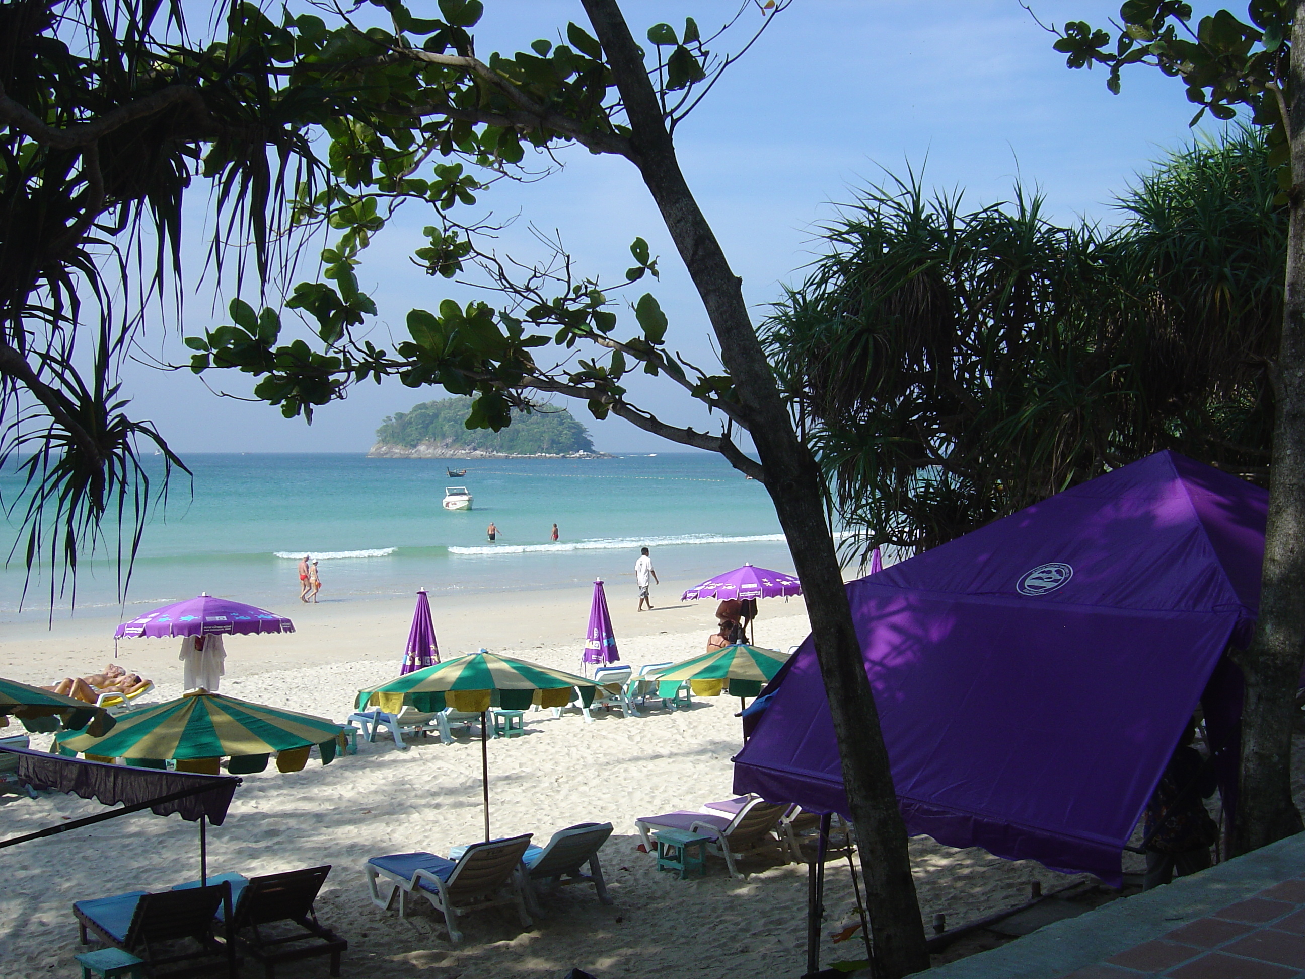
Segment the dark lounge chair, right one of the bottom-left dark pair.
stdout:
[[[231,902],[235,907],[231,933],[243,952],[262,962],[266,979],[274,979],[278,962],[316,956],[330,956],[330,974],[339,975],[339,957],[348,950],[348,942],[320,924],[313,910],[328,873],[330,864],[262,877],[226,873],[210,878],[224,880],[231,885]],[[179,884],[172,890],[196,886],[198,881]],[[218,920],[224,920],[221,914]],[[299,929],[288,935],[270,933],[268,925],[282,922],[292,923]]]

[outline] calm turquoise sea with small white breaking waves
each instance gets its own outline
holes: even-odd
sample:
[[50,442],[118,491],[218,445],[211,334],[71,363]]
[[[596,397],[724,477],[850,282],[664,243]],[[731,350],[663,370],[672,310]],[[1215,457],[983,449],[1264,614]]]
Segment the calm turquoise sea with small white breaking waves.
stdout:
[[[744,561],[792,570],[765,488],[707,453],[461,461],[251,453],[185,462],[193,480],[176,474],[151,516],[128,606],[200,591],[283,604],[298,595],[304,553],[320,561],[322,600],[423,586],[435,595],[624,581],[643,546],[663,580],[705,580]],[[467,475],[449,478],[446,466]],[[455,484],[472,492],[472,510],[441,506]],[[17,491],[13,471],[0,473],[7,504]],[[489,521],[500,531],[493,544]],[[8,553],[14,521],[5,534]],[[0,620],[13,621],[23,576],[20,551],[0,572]],[[23,610],[48,612],[48,578],[34,580]],[[56,597],[56,610],[69,607],[69,594]],[[115,565],[99,553],[78,573],[78,615],[117,608]]]

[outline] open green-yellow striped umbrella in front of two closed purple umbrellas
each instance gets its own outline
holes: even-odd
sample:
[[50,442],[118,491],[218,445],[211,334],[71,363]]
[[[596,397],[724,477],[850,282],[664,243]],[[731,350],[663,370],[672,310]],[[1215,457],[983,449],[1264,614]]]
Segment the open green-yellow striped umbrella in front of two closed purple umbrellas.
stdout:
[[525,710],[531,705],[564,707],[574,700],[576,689],[589,706],[598,685],[565,670],[480,650],[359,691],[358,709],[371,706],[397,714],[405,704],[424,713],[445,707],[470,713],[484,713],[492,706],[501,710]]

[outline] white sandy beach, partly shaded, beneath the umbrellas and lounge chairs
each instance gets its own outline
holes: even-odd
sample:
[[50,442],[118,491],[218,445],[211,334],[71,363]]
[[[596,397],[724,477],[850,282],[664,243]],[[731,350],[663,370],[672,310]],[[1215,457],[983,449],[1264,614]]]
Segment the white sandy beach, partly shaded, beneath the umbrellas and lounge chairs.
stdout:
[[[669,586],[662,591],[677,594]],[[702,649],[710,603],[636,615],[624,598],[612,597],[612,611],[625,662],[664,662]],[[576,591],[435,603],[441,649],[448,658],[487,645],[577,670],[587,600]],[[787,649],[808,630],[799,602],[765,602],[761,611],[758,645]],[[222,692],[341,721],[359,688],[395,674],[410,617],[408,602],[301,610],[294,636],[228,641]],[[150,700],[180,693],[177,645],[123,646],[120,662],[159,683]],[[64,623],[54,633],[7,627],[0,676],[47,683],[56,674],[86,672],[111,654],[102,623]],[[495,835],[534,833],[542,843],[573,822],[616,828],[602,851],[611,907],[599,905],[591,888],[565,888],[532,928],[499,911],[463,918],[466,940],[455,949],[425,902],[407,920],[371,905],[360,869],[368,856],[444,854],[480,838],[480,747],[466,736],[453,745],[419,740],[407,751],[393,741],[363,744],[356,756],[325,768],[315,760],[295,774],[244,777],[226,824],[209,830],[209,868],[254,876],[331,864],[317,910],[348,939],[346,976],[561,976],[573,966],[599,976],[796,975],[805,963],[805,865],[745,864],[753,872],[736,881],[713,862],[706,878],[679,881],[634,848],[636,817],[731,795],[729,757],[741,738],[736,710],[736,700],[720,697],[697,700],[693,710],[613,714],[592,724],[576,711],[559,719],[530,713],[525,738],[489,743]],[[34,745],[47,741],[35,738]],[[73,796],[0,796],[0,833],[97,812],[103,807]],[[912,841],[912,858],[925,920],[945,912],[951,927],[1021,903],[1032,880],[1048,892],[1077,880],[928,838]],[[137,813],[0,851],[0,976],[73,975],[72,956],[81,949],[72,902],[197,877],[197,830],[175,816]],[[859,940],[827,939],[852,920],[846,863],[831,864],[826,880],[822,958],[864,957]],[[326,959],[278,974],[326,976]]]

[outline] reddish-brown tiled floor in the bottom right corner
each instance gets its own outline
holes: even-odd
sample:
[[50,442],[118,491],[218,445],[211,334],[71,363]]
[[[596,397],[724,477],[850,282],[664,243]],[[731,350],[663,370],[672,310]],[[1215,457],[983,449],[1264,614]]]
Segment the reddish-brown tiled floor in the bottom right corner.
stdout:
[[1065,979],[1305,979],[1305,875]]

